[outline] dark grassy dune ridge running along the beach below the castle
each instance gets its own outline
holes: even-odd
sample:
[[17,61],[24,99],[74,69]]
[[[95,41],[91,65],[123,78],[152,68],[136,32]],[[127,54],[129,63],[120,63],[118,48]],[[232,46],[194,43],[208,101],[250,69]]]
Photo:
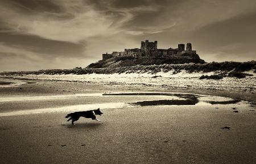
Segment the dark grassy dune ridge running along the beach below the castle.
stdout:
[[[138,59],[141,60],[141,59]],[[48,69],[48,70],[38,70],[38,71],[21,71],[21,72],[2,72],[0,75],[27,75],[27,74],[121,74],[121,73],[150,73],[155,74],[158,72],[169,72],[173,71],[175,73],[185,70],[188,73],[194,72],[222,72],[221,75],[226,77],[225,74],[231,72],[229,77],[238,76],[237,73],[242,73],[247,70],[254,70],[256,72],[256,61],[247,62],[209,62],[209,63],[189,63],[189,64],[161,64],[161,65],[136,65],[133,58],[120,57],[110,58],[106,60],[108,62],[105,65],[102,64],[90,64],[86,68],[74,68],[74,69]],[[142,62],[142,61],[139,61]],[[134,65],[135,64],[135,65]],[[99,66],[105,66],[105,68],[97,68]],[[94,68],[92,68],[94,67]],[[235,73],[237,72],[237,73]],[[211,77],[212,78],[212,77]]]

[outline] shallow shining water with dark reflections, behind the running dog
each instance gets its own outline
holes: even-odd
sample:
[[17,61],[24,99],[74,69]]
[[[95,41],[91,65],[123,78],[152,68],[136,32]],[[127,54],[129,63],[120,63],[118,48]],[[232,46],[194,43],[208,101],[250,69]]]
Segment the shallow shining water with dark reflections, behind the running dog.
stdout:
[[[24,103],[26,101],[45,101],[52,99],[70,99],[70,98],[118,98],[115,102],[109,103],[93,103],[93,104],[79,104],[72,106],[63,106],[63,107],[53,107],[53,108],[38,108],[34,110],[18,110],[12,112],[2,112],[0,116],[15,116],[15,115],[29,115],[29,114],[38,114],[38,113],[50,113],[50,112],[74,112],[74,111],[86,111],[96,108],[101,108],[104,110],[108,109],[118,109],[118,108],[134,108],[141,106],[175,106],[175,107],[184,107],[184,106],[216,106],[222,108],[231,108],[234,104],[240,103],[240,107],[249,107],[249,103],[240,102],[231,98],[225,98],[222,96],[209,96],[209,95],[199,95],[199,94],[181,94],[181,93],[171,93],[171,92],[122,92],[122,93],[97,93],[97,94],[74,94],[74,95],[56,95],[56,96],[16,96],[1,98],[0,102],[2,103],[12,103],[20,102]],[[236,101],[236,102],[234,102]],[[214,103],[212,103],[214,102]]]

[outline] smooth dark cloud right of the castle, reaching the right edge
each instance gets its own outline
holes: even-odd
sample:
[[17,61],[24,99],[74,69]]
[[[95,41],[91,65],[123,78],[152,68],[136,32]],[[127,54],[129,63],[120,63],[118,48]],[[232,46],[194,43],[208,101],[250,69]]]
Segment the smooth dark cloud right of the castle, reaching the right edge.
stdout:
[[230,43],[250,43],[256,37],[256,13],[240,15],[225,21],[209,24],[193,33],[197,40],[210,42],[216,46]]

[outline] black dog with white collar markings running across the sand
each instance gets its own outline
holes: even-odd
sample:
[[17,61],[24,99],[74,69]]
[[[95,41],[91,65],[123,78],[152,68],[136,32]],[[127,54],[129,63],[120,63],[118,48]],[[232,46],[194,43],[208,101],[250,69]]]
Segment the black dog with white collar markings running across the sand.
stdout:
[[103,113],[100,111],[100,108],[98,108],[97,110],[69,113],[65,117],[66,118],[70,117],[67,121],[72,120],[72,125],[75,125],[74,121],[79,120],[80,117],[91,118],[93,120],[101,121],[101,120],[98,120],[95,115],[100,115],[101,116],[102,114]]

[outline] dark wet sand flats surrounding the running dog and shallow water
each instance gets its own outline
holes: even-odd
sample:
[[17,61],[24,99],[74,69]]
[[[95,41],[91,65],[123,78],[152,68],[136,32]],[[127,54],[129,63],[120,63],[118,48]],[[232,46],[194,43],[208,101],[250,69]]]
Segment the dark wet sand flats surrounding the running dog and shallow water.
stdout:
[[[1,163],[255,163],[255,95],[241,92],[162,90],[153,87],[31,81],[0,89],[1,97],[108,92],[191,92],[228,95],[251,104],[134,106],[103,109],[101,122],[67,111],[0,117]],[[110,102],[117,102],[115,97]],[[123,97],[129,101],[133,98]],[[104,97],[0,102],[1,113],[104,103]],[[97,102],[96,102],[97,101]],[[138,99],[139,101],[139,99]],[[235,109],[234,109],[235,108]],[[238,112],[234,112],[234,111]],[[224,127],[230,127],[226,129]],[[221,129],[224,128],[224,129]]]

